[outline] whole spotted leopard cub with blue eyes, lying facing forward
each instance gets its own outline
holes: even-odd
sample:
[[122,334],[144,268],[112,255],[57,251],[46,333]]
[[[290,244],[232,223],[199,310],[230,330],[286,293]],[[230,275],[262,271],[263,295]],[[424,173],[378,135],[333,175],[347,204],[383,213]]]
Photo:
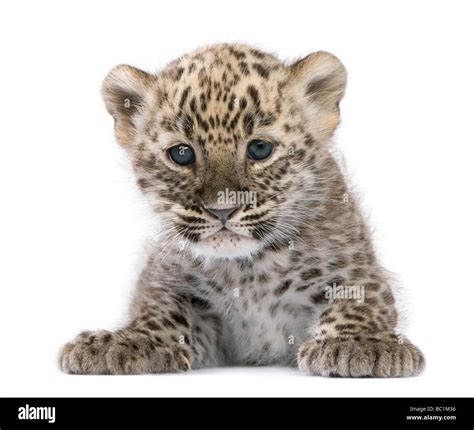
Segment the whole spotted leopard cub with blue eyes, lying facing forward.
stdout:
[[105,104],[163,236],[129,323],[65,345],[65,372],[422,371],[331,155],[345,86],[329,53],[287,64],[240,44],[200,48],[158,74],[112,69]]

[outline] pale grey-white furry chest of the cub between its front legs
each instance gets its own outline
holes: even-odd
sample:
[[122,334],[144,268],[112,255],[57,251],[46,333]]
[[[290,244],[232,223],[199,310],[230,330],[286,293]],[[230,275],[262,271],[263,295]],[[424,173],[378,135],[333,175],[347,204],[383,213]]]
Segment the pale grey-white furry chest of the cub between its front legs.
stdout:
[[297,292],[301,284],[277,271],[258,269],[227,271],[202,283],[203,297],[223,320],[225,340],[237,363],[293,360],[323,308],[311,301],[309,288]]

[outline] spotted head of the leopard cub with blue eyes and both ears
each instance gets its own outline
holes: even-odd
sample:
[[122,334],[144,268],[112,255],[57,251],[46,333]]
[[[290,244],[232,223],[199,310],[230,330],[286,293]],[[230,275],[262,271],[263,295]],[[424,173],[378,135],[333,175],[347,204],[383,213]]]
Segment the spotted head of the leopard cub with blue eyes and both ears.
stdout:
[[325,204],[345,83],[325,52],[288,65],[224,44],[158,74],[117,66],[102,92],[170,237],[195,255],[242,258],[288,246]]

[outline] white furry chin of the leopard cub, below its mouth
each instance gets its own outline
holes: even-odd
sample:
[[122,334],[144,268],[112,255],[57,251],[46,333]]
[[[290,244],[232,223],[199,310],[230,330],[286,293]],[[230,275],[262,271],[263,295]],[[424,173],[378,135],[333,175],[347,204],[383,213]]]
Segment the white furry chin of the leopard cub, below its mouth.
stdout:
[[259,241],[223,231],[193,243],[192,253],[205,259],[249,258],[262,249]]

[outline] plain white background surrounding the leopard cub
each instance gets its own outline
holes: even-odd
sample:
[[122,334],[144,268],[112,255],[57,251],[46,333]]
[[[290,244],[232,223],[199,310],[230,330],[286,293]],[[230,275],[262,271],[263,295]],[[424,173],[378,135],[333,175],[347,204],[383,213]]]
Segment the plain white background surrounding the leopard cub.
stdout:
[[[473,372],[473,16],[466,1],[15,1],[0,6],[0,395],[467,396]],[[240,41],[349,72],[337,134],[404,286],[418,378],[279,368],[69,376],[63,343],[118,327],[154,229],[114,142],[108,70]]]

